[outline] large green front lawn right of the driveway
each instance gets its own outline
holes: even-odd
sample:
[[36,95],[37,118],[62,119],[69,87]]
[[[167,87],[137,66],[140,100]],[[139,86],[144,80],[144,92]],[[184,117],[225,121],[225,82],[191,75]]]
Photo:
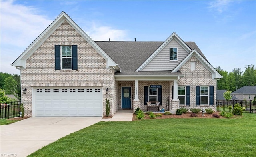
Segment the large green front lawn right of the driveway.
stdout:
[[[256,115],[99,122],[29,157],[253,157]],[[72,126],[70,126],[72,127]]]

